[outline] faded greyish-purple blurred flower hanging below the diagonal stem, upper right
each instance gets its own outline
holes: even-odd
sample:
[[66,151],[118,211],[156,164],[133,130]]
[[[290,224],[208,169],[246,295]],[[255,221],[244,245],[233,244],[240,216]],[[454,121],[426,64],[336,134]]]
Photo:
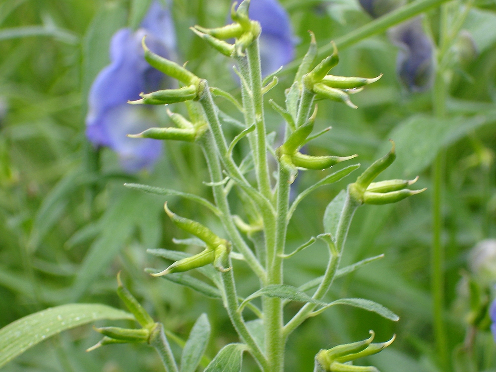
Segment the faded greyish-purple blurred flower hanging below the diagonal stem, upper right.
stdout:
[[400,48],[396,72],[411,92],[424,92],[434,83],[434,44],[422,28],[422,17],[389,30],[391,41]]

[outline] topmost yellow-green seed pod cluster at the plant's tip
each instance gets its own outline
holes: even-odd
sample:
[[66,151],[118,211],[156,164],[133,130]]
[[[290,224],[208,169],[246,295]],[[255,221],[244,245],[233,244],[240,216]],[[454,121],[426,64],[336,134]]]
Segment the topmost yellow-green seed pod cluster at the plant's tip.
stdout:
[[[243,1],[236,9],[238,2],[233,2],[231,18],[233,23],[218,28],[191,27],[191,30],[210,44],[217,51],[228,57],[243,57],[244,50],[260,35],[260,23],[248,18],[249,1]],[[230,44],[225,40],[235,39]]]

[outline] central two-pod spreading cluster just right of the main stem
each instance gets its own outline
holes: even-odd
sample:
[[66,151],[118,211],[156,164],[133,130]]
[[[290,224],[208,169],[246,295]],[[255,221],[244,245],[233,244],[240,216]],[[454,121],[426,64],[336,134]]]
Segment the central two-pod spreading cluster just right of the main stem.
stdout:
[[276,155],[279,157],[279,161],[291,174],[290,183],[293,183],[298,175],[298,168],[322,170],[358,156],[356,154],[351,156],[311,156],[302,154],[299,150],[305,144],[313,130],[316,115],[317,105],[315,105],[313,114],[307,123],[298,127],[290,134],[286,142],[276,149]]

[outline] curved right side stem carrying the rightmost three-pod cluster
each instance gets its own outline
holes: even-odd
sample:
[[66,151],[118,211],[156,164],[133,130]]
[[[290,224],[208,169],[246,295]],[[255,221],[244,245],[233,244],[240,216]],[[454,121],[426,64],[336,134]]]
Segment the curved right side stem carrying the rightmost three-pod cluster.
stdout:
[[[346,237],[348,236],[348,231],[350,229],[351,221],[353,219],[353,215],[355,214],[357,208],[360,204],[354,200],[350,196],[350,192],[347,192],[346,201],[343,206],[343,210],[341,212],[341,216],[339,217],[339,223],[336,231],[336,237],[334,238],[335,249],[337,250],[337,254],[333,253],[332,249],[330,249],[331,254],[329,257],[329,262],[327,264],[327,268],[325,270],[324,276],[322,278],[322,282],[319,284],[317,290],[313,294],[312,298],[320,301],[334,281],[334,277],[336,276],[337,268],[339,267],[339,262],[341,261],[341,256],[344,248],[344,244],[346,242]],[[317,305],[307,303],[303,306],[300,311],[296,313],[295,316],[284,326],[283,335],[284,337],[288,337],[291,332],[293,332],[300,324],[302,324],[310,315],[310,313],[315,310]]]

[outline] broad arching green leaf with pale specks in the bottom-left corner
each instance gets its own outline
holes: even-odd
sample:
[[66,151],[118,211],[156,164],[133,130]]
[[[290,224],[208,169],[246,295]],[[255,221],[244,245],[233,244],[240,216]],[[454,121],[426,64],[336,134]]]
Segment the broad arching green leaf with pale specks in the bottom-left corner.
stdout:
[[102,319],[134,319],[99,304],[68,304],[35,312],[0,329],[0,368],[32,346],[62,331]]

